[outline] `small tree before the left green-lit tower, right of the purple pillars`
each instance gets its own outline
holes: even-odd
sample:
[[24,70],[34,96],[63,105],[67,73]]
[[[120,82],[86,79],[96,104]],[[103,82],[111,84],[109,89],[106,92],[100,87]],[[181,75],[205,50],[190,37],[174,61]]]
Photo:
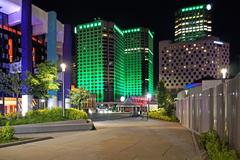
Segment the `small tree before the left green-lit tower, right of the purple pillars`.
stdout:
[[82,102],[87,100],[89,97],[89,91],[84,88],[73,88],[70,91],[70,103],[79,110],[82,109]]

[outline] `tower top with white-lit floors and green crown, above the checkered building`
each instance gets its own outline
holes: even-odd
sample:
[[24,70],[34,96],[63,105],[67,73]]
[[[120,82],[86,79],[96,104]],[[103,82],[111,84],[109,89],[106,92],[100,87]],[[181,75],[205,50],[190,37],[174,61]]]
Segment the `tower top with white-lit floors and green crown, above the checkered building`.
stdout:
[[211,36],[211,4],[180,8],[175,13],[175,42]]

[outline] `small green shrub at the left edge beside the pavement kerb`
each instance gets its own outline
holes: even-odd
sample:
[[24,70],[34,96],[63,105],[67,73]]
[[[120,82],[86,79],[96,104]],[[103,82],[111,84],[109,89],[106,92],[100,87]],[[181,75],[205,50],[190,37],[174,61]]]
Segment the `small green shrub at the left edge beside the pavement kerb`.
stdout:
[[15,130],[13,127],[9,126],[9,123],[6,123],[4,127],[0,129],[0,142],[8,142],[13,139]]

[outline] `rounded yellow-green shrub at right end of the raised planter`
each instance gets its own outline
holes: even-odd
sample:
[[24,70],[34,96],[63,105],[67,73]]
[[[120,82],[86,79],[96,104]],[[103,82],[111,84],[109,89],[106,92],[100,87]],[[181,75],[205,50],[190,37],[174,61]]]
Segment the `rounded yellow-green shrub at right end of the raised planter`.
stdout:
[[66,118],[70,120],[77,120],[77,119],[87,119],[88,116],[87,116],[87,113],[82,110],[69,108],[66,110]]

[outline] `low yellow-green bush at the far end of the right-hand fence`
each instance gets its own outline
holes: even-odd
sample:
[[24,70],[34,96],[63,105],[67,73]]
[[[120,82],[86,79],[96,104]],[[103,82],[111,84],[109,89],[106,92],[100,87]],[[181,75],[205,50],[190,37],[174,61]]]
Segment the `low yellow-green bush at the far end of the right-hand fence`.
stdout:
[[164,121],[174,121],[174,122],[178,121],[175,115],[168,115],[164,108],[159,108],[156,111],[149,112],[149,117],[153,119],[164,120]]

